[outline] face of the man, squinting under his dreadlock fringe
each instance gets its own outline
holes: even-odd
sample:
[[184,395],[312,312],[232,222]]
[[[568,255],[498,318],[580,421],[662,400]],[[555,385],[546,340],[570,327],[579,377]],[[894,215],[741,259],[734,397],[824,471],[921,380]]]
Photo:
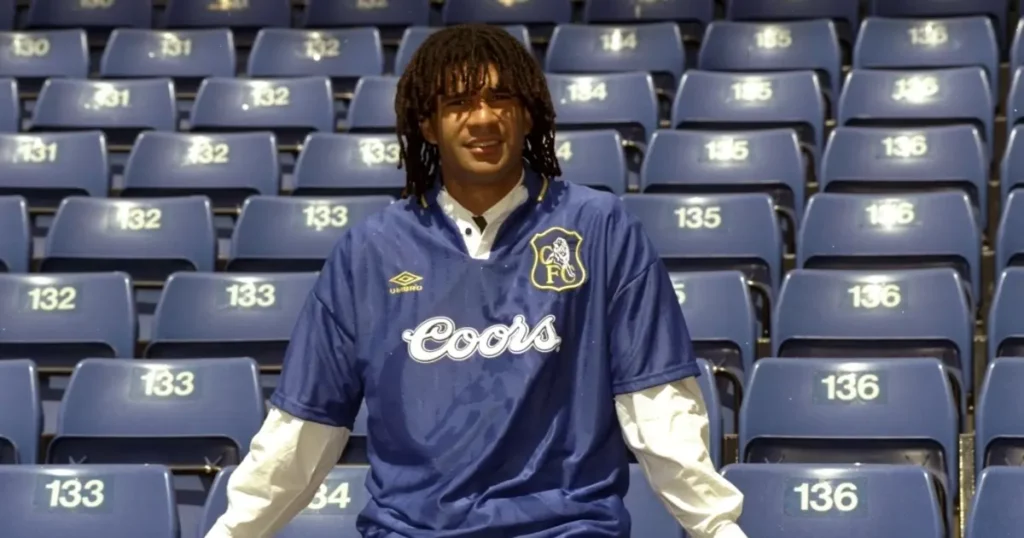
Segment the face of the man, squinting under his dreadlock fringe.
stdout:
[[462,177],[500,180],[521,162],[532,122],[500,82],[497,70],[489,67],[479,92],[453,88],[438,98],[434,116],[420,125],[424,138],[437,146],[445,168],[462,172]]

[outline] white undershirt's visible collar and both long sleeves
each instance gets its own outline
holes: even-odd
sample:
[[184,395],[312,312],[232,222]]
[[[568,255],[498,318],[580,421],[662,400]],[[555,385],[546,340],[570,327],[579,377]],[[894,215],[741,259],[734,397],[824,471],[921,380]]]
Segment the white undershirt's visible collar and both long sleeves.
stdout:
[[[490,255],[501,223],[528,193],[520,183],[482,216],[441,190],[437,202],[459,227],[466,251]],[[623,438],[651,489],[692,538],[746,538],[734,522],[743,496],[719,474],[709,454],[709,421],[695,378],[615,397]],[[348,442],[347,428],[328,426],[270,408],[249,455],[231,474],[228,507],[206,538],[269,538],[312,500]]]

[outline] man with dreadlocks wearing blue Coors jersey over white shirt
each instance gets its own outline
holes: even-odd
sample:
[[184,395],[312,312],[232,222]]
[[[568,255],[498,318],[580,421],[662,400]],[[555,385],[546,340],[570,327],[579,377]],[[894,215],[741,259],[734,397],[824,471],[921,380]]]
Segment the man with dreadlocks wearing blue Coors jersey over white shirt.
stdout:
[[365,537],[627,538],[628,445],[694,538],[744,538],[665,266],[617,198],[553,180],[529,51],[441,30],[395,112],[407,196],[327,260],[208,536],[272,536],[301,511],[365,399]]

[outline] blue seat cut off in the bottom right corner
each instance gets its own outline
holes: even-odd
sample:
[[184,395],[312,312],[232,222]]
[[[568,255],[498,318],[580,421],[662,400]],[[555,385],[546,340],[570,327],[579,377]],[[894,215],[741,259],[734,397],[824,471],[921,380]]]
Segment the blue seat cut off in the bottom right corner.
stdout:
[[978,485],[967,518],[967,538],[1013,536],[1024,527],[1017,500],[1024,496],[1024,468],[978,470]]

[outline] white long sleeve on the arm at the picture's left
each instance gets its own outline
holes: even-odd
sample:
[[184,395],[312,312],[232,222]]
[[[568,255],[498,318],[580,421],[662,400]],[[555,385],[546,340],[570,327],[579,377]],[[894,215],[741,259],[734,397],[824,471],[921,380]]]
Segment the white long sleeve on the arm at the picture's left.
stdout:
[[273,536],[302,511],[338,462],[349,430],[270,408],[227,482],[227,510],[206,538]]

